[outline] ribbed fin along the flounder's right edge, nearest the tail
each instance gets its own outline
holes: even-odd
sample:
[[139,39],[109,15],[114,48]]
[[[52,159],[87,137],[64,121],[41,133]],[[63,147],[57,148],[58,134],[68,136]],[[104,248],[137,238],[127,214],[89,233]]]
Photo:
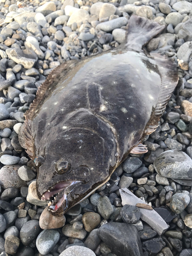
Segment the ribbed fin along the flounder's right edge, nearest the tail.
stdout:
[[168,59],[157,53],[152,53],[151,56],[156,60],[157,67],[160,72],[161,88],[158,102],[153,108],[150,120],[145,126],[144,136],[151,134],[156,130],[159,119],[163,115],[168,100],[176,88],[179,80],[177,65],[173,59]]

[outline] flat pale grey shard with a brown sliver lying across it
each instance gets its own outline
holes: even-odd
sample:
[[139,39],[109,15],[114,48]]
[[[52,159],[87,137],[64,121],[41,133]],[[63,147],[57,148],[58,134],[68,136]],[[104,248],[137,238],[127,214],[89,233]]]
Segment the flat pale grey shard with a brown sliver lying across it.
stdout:
[[[127,188],[122,188],[119,191],[122,199],[122,205],[129,204],[135,206],[137,203],[145,203]],[[140,208],[140,212],[141,219],[150,225],[159,235],[169,227],[155,210]]]

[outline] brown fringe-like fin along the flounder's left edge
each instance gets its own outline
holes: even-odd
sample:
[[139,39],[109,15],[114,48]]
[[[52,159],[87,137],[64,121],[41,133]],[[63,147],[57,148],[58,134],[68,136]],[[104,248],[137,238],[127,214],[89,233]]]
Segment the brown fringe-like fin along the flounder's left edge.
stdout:
[[32,104],[30,105],[29,110],[25,113],[25,123],[22,127],[22,132],[24,136],[25,143],[22,143],[26,149],[27,154],[30,156],[32,160],[35,159],[35,150],[34,150],[34,138],[32,136],[32,118],[36,114],[36,110],[38,110],[38,106],[42,104],[44,99],[46,98],[48,91],[50,88],[57,85],[61,76],[66,76],[68,71],[73,69],[75,65],[79,62],[79,60],[71,60],[70,62],[65,62],[59,67],[55,68],[47,77],[45,82],[41,84],[41,86],[37,90],[36,97]]

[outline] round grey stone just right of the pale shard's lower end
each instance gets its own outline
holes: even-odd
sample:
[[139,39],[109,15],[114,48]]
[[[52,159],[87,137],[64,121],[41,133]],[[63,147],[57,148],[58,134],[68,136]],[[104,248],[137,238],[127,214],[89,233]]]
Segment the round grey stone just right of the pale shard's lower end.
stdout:
[[170,199],[170,209],[180,214],[189,204],[190,197],[185,193],[177,193]]

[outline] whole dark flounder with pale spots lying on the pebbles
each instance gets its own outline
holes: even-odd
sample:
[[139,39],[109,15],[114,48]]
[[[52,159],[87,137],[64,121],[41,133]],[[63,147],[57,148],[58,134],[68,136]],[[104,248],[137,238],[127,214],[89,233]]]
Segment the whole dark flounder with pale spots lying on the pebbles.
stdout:
[[65,214],[107,182],[158,126],[178,81],[173,60],[143,50],[164,29],[132,15],[126,42],[67,61],[42,83],[25,114],[19,140],[37,168],[41,200]]

